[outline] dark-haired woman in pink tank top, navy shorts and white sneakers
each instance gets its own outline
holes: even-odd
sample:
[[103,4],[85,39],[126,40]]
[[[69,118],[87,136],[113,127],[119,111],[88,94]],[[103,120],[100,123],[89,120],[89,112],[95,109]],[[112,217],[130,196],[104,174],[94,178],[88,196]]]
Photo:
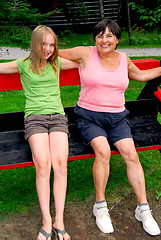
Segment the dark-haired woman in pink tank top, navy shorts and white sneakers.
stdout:
[[116,51],[121,31],[114,21],[104,19],[99,22],[94,27],[93,37],[96,46],[61,50],[59,56],[80,64],[81,91],[75,113],[84,143],[91,145],[96,156],[93,164],[96,224],[103,233],[114,231],[105,201],[110,172],[110,141],[127,165],[127,176],[138,201],[136,219],[142,221],[149,234],[158,235],[160,229],[151,215],[144,172],[126,119],[129,112],[125,109],[124,93],[129,78],[149,81],[161,75],[161,68],[140,71],[129,57]]

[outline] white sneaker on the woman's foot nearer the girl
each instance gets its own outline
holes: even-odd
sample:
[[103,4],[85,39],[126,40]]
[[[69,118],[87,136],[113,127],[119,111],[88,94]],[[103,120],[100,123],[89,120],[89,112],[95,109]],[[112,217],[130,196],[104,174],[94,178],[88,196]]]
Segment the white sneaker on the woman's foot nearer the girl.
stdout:
[[97,227],[103,233],[113,233],[114,232],[107,207],[97,209],[96,204],[94,204],[93,205],[93,215],[96,217]]

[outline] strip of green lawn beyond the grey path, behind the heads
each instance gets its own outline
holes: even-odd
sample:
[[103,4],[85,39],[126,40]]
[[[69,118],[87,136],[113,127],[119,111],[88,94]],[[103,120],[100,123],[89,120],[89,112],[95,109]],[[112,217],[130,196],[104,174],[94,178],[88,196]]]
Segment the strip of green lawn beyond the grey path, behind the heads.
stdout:
[[[75,33],[72,30],[66,29],[61,31],[58,34],[58,41],[61,43],[59,48],[69,48],[75,46],[90,46],[94,45],[92,30],[89,33],[82,34],[82,33]],[[161,32],[154,30],[153,32],[147,32],[144,29],[142,30],[135,30],[132,29],[131,41],[129,41],[129,34],[124,29],[121,29],[121,40],[119,42],[119,46],[121,48],[149,48],[149,47],[160,47],[161,46]],[[26,33],[26,34],[25,34]],[[30,39],[32,30],[24,29],[23,33],[15,30],[14,31],[14,39],[10,38],[12,33],[7,32],[2,33],[0,38],[0,47],[7,46],[7,47],[21,47],[23,49],[30,48]],[[63,44],[62,44],[63,43]],[[65,43],[65,45],[64,45]],[[0,48],[1,54],[1,48]]]

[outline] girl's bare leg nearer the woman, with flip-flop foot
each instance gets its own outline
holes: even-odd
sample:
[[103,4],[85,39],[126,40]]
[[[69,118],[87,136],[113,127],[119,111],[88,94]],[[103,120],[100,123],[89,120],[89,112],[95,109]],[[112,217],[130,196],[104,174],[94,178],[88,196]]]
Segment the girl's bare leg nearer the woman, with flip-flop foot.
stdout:
[[[53,228],[64,230],[64,205],[67,188],[68,136],[65,132],[51,132],[50,154],[54,170],[53,192],[55,200],[55,222]],[[69,235],[59,235],[59,239],[68,240]]]

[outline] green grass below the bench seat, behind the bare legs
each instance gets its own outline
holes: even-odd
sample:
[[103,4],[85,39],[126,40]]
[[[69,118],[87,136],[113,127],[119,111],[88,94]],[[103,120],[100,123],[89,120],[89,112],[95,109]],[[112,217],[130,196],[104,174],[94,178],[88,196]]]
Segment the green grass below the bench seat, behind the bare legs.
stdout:
[[[161,194],[161,154],[159,151],[139,153],[145,171],[148,195],[154,194],[159,199]],[[68,163],[68,191],[66,204],[86,202],[94,195],[92,165],[94,159],[78,160]],[[51,174],[51,182],[53,172]],[[79,185],[79,187],[78,187]],[[5,187],[4,187],[5,186]],[[131,191],[126,176],[126,166],[120,155],[111,157],[111,174],[106,188],[109,206]],[[4,170],[0,172],[0,213],[27,212],[31,206],[38,205],[35,188],[35,169]],[[52,194],[52,192],[51,192]]]

